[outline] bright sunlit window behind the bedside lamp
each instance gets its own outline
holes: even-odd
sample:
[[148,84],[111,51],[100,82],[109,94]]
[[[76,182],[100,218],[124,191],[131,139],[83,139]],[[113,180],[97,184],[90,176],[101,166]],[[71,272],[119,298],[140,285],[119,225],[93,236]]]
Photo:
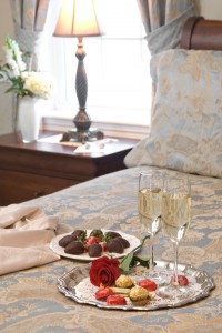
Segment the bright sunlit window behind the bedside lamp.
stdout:
[[[105,34],[83,39],[87,112],[93,121],[149,125],[150,56],[138,3],[135,0],[98,0],[97,8]],[[57,81],[53,109],[57,114],[73,118],[78,112],[77,38],[52,37],[51,42],[53,61],[50,64]]]

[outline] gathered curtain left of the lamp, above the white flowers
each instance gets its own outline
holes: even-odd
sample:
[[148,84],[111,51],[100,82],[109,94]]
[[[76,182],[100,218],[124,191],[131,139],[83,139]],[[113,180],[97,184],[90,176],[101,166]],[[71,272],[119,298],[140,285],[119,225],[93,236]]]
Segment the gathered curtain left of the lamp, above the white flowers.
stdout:
[[38,70],[40,52],[50,0],[10,0],[14,39],[22,52],[29,70]]

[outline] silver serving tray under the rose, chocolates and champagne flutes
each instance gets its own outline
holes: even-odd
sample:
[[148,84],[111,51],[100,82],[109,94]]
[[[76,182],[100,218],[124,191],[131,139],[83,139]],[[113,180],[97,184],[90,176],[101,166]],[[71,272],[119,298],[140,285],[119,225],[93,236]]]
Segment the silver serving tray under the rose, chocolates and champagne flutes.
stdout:
[[[173,263],[165,261],[157,261],[157,270],[170,276],[173,275]],[[213,279],[204,271],[196,270],[191,265],[179,264],[179,273],[184,274],[189,278],[189,285],[186,286],[189,293],[184,300],[169,300],[159,297],[155,292],[151,293],[151,301],[149,301],[145,306],[133,306],[130,300],[127,299],[127,305],[107,305],[105,301],[98,301],[94,297],[94,293],[98,290],[97,286],[90,283],[89,279],[89,269],[90,264],[82,264],[75,266],[70,272],[63,274],[58,279],[58,289],[67,297],[74,300],[81,304],[90,304],[101,309],[110,310],[141,310],[150,311],[157,309],[167,309],[167,307],[179,307],[189,303],[194,303],[200,299],[206,297],[210,294],[210,291],[214,287]],[[135,268],[130,276],[135,281],[141,278],[148,278],[148,271],[144,268]]]

